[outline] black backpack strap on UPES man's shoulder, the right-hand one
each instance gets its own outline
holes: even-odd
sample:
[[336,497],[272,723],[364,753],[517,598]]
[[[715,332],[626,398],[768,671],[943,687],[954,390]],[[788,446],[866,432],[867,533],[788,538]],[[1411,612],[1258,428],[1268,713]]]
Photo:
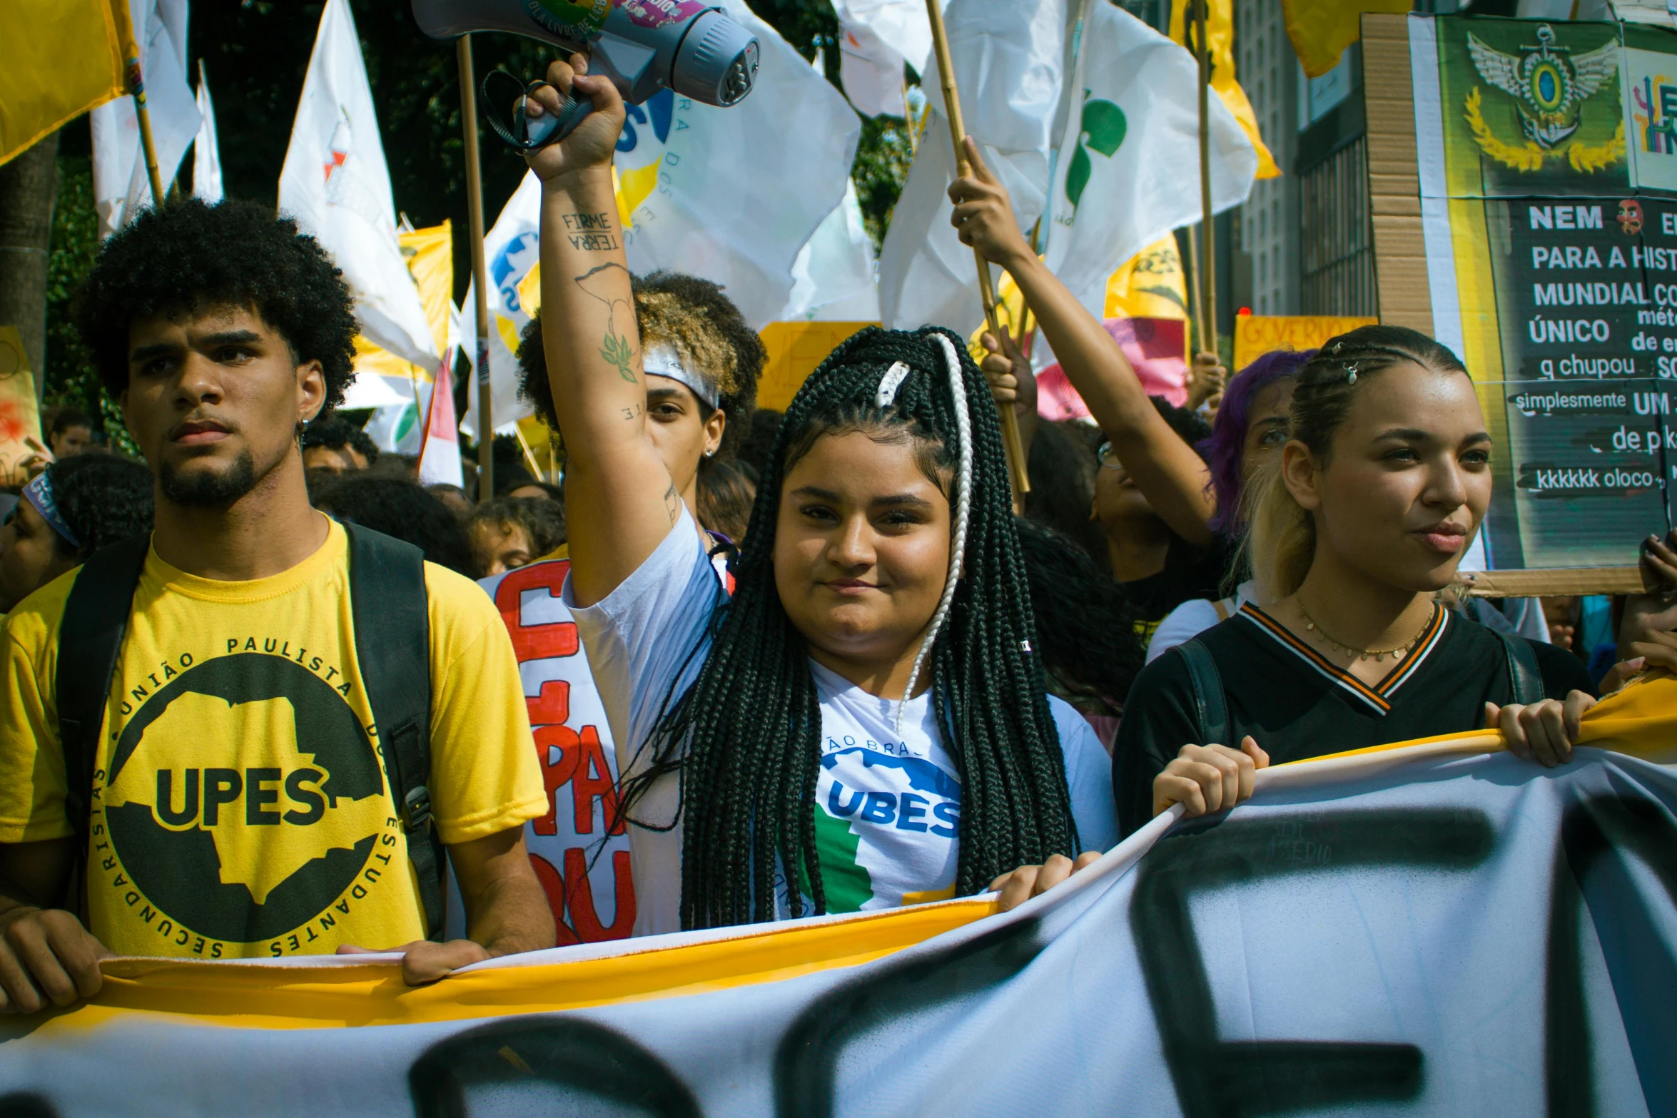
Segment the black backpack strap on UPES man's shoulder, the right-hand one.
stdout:
[[431,820],[431,617],[424,553],[359,525],[349,533],[356,660],[408,833],[426,937],[443,935],[443,838]]

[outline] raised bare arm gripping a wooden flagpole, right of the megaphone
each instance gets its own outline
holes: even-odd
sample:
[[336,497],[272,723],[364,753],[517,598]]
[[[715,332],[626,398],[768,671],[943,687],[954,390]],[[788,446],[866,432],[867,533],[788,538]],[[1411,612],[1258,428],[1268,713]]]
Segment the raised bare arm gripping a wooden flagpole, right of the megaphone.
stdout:
[[[1105,327],[1025,243],[1006,188],[984,166],[971,137],[966,139],[966,154],[973,161],[973,174],[949,186],[949,198],[956,203],[951,220],[961,243],[976,245],[988,260],[1008,270],[1067,379],[1107,432],[1135,486],[1172,531],[1204,546],[1211,541],[1207,525],[1216,511],[1206,463],[1159,416],[1135,369]],[[999,345],[989,349],[996,352]]]

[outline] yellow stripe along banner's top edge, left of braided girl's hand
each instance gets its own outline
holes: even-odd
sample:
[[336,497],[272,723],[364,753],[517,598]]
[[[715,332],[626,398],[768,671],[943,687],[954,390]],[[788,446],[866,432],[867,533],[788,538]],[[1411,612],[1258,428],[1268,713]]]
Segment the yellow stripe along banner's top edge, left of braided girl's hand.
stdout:
[[404,986],[394,964],[262,967],[112,959],[102,964],[106,982],[99,996],[44,1027],[94,1027],[136,1011],[240,1029],[428,1024],[558,1012],[854,967],[994,912],[994,900],[966,898],[807,927],[758,925],[706,944],[471,970],[423,987]]

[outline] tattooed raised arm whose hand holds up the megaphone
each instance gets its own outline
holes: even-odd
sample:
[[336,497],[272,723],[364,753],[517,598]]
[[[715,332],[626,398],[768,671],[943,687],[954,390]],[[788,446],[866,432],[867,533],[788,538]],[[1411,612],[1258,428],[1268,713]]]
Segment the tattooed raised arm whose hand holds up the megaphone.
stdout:
[[553,62],[532,101],[558,112],[572,89],[594,112],[528,154],[542,179],[542,342],[565,437],[565,520],[579,605],[609,595],[669,535],[681,496],[646,432],[641,332],[624,256],[612,151],[624,102],[587,59]]

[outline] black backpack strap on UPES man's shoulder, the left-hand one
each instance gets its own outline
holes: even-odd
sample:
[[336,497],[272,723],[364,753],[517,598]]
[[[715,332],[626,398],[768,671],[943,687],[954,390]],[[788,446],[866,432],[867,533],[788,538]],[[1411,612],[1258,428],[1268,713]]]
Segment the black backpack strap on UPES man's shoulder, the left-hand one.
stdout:
[[91,823],[99,729],[149,551],[149,531],[96,551],[75,573],[59,619],[59,667],[52,687],[64,749],[64,815],[82,838]]

